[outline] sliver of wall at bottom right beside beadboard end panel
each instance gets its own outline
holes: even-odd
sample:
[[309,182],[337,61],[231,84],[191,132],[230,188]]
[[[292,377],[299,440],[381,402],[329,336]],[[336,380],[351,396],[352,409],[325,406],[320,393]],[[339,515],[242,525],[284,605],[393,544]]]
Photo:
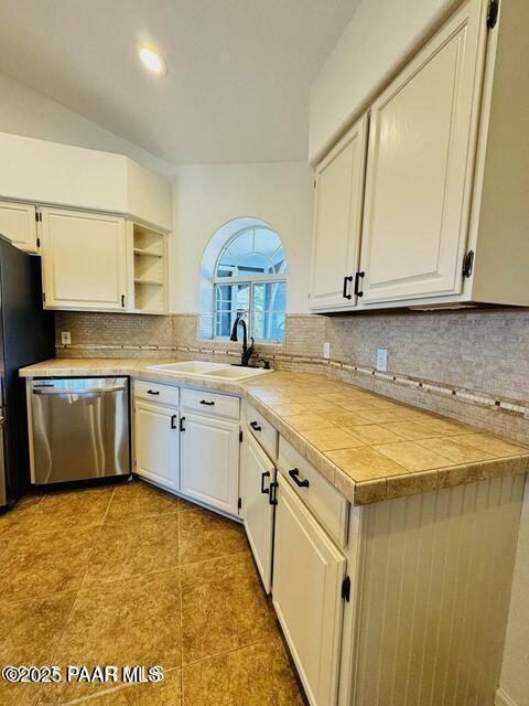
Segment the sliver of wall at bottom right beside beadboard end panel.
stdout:
[[529,706],[529,482],[526,482],[499,683],[504,694],[516,706]]

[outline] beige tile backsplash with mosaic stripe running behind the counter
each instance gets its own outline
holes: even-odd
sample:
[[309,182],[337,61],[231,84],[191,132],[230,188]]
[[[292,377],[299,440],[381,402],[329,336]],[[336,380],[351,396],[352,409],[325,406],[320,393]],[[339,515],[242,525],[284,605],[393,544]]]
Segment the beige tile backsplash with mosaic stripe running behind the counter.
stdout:
[[[61,331],[72,345],[61,344]],[[198,339],[198,317],[58,312],[60,357],[204,357],[240,344]],[[323,343],[331,360],[323,359]],[[377,349],[388,350],[378,373]],[[388,397],[529,441],[529,310],[288,314],[284,344],[258,344],[272,367],[349,381]]]

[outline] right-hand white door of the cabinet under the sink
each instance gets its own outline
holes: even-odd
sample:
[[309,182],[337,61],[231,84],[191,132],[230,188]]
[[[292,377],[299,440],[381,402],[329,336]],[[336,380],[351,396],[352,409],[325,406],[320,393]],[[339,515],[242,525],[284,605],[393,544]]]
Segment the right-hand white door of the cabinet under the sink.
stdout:
[[212,507],[237,514],[239,424],[186,414],[182,417],[180,490]]

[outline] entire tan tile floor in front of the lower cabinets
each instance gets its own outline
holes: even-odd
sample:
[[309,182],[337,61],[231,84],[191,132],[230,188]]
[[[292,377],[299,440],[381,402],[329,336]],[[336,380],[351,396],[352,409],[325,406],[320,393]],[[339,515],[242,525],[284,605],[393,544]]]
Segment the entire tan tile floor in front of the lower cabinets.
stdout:
[[162,665],[159,684],[8,684],[2,706],[301,706],[240,525],[141,481],[0,516],[0,665]]

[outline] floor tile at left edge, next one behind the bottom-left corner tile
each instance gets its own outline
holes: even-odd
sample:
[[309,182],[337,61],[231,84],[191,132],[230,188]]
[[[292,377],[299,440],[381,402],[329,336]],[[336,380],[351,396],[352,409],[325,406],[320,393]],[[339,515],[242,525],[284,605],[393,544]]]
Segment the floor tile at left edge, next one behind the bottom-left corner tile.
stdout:
[[12,539],[0,564],[0,603],[80,586],[99,527]]

